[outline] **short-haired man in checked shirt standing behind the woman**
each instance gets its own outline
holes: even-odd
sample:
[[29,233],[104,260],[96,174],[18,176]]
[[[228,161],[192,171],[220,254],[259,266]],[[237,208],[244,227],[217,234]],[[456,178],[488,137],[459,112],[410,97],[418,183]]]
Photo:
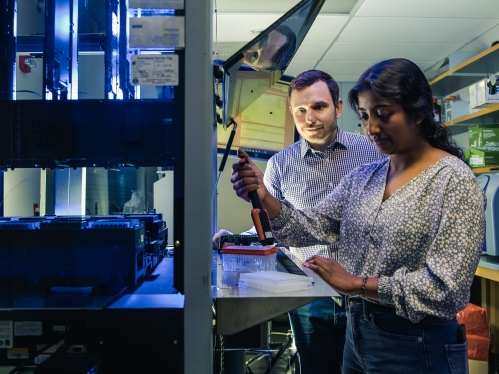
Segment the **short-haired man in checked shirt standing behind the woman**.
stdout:
[[[302,139],[268,161],[264,183],[277,199],[286,199],[298,209],[312,207],[353,168],[384,157],[365,136],[337,127],[343,103],[330,75],[319,70],[301,73],[290,83],[288,100]],[[312,255],[336,258],[337,244],[290,251],[302,262]],[[289,312],[289,319],[301,373],[341,373],[344,307],[326,297]]]

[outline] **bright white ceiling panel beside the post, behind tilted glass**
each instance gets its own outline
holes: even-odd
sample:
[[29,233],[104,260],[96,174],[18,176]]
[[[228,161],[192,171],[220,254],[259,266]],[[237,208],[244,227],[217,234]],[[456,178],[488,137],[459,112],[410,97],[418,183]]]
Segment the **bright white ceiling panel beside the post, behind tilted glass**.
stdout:
[[281,16],[282,14],[219,14],[213,17],[213,39],[218,37],[219,42],[249,42],[258,35],[251,30],[264,30]]

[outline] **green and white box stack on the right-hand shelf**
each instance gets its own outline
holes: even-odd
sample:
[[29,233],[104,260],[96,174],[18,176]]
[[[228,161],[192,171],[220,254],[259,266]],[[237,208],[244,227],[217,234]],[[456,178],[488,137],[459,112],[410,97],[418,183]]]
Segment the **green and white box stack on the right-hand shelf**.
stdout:
[[470,148],[464,157],[470,167],[499,165],[499,124],[472,126],[468,138]]

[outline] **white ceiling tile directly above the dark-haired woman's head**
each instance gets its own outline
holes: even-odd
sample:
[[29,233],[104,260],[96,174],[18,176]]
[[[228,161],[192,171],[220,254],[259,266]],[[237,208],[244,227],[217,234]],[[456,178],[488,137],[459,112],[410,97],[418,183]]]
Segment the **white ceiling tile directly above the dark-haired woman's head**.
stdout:
[[336,42],[324,56],[324,61],[379,61],[402,57],[413,62],[441,60],[457,49],[461,43],[370,43]]

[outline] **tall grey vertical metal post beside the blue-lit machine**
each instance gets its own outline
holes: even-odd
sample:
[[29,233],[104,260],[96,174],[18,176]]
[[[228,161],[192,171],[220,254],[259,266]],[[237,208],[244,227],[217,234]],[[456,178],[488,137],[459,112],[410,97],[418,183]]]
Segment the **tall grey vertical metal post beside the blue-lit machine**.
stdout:
[[203,374],[213,366],[213,7],[212,1],[189,0],[185,8],[184,368]]

